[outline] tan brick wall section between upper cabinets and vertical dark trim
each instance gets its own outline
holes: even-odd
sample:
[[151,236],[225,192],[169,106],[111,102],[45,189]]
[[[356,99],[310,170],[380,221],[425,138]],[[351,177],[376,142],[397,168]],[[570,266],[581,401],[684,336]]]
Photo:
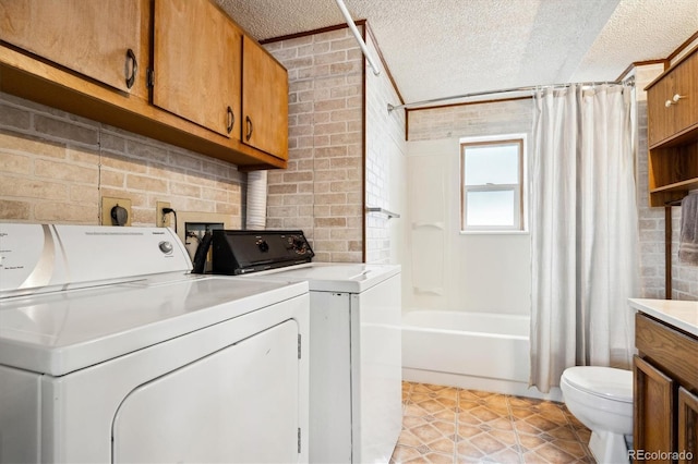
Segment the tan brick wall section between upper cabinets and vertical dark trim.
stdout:
[[318,261],[363,259],[363,56],[348,28],[266,44],[288,70],[289,164],[267,228],[303,229]]

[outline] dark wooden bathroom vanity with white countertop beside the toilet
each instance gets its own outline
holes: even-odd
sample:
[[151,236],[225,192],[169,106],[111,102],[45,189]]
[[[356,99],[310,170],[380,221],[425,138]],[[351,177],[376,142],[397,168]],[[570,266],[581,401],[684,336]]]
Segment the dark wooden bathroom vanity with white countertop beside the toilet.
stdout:
[[694,462],[698,457],[698,302],[630,300],[629,304],[638,310],[638,354],[633,363],[635,457]]

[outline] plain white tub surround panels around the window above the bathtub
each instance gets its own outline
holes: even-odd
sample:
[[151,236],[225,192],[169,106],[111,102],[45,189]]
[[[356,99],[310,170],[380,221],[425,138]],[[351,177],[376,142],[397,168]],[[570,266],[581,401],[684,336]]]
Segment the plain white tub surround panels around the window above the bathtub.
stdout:
[[[530,102],[527,109],[530,113]],[[497,113],[506,110],[512,109]],[[483,111],[471,118],[486,117]],[[460,230],[459,138],[410,142],[408,147],[407,208],[394,209],[405,213],[399,221],[407,224],[405,307],[529,316],[530,236],[452,233]]]

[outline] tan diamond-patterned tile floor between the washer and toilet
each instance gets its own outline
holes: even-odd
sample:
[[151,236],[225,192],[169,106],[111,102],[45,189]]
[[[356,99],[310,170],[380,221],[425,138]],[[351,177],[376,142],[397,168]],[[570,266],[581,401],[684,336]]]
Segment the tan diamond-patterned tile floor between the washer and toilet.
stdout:
[[402,382],[399,463],[594,463],[590,431],[564,404]]

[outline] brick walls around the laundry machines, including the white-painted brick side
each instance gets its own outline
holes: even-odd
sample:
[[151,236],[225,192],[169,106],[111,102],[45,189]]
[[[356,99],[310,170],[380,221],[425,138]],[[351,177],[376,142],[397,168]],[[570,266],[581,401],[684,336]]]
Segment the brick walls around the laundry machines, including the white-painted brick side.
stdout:
[[[404,188],[404,167],[389,161],[402,156],[404,112],[387,114],[387,102],[398,102],[387,75],[364,82],[364,59],[348,28],[266,48],[288,69],[290,89],[289,168],[269,171],[267,228],[303,229],[317,260],[358,262],[365,246],[368,259],[388,261],[399,233],[385,218],[364,215],[364,195],[387,207],[388,196],[393,204],[399,196],[390,190]],[[15,171],[2,174],[0,219],[98,223],[100,197],[117,196],[132,200],[134,225],[154,224],[155,202],[164,200],[230,215],[240,227],[246,176],[234,166],[9,95],[0,105],[0,131],[10,137],[1,160]],[[21,146],[29,142],[32,148]],[[41,154],[49,148],[60,154]],[[47,157],[64,178],[61,193],[48,191],[52,183],[38,188]]]

